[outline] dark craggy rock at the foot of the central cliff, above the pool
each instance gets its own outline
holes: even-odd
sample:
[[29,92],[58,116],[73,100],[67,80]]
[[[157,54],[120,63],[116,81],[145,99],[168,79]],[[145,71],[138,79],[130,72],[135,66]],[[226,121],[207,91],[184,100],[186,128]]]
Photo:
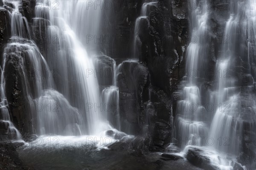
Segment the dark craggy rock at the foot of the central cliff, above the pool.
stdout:
[[160,88],[149,86],[146,94],[150,94],[151,101],[144,103],[145,132],[151,136],[150,149],[163,151],[172,137],[172,102],[168,95]]

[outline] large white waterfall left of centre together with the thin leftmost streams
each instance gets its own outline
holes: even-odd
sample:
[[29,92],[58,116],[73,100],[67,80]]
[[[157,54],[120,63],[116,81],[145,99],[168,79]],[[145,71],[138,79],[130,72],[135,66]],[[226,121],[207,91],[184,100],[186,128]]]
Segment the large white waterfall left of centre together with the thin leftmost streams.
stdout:
[[[26,116],[31,121],[33,133],[73,136],[99,134],[111,129],[106,113],[99,108],[102,100],[97,77],[88,74],[95,69],[95,59],[87,50],[92,52],[95,47],[80,38],[98,34],[101,9],[84,10],[89,6],[86,0],[61,1],[54,7],[46,0],[38,1],[31,35],[28,22],[17,6],[20,1],[12,3],[15,6],[10,13],[12,38],[4,50],[1,67],[1,119],[4,123],[7,121],[9,131],[15,130],[17,137],[21,137],[8,116],[6,99],[5,79],[9,77],[5,70],[12,60],[19,65],[21,96],[25,104],[29,104]],[[74,15],[80,20],[73,20],[74,8],[77,9]],[[88,16],[86,21],[81,12]],[[95,15],[91,15],[92,12]],[[40,41],[35,42],[40,49],[32,40],[38,36]],[[116,85],[114,79],[113,85]],[[118,89],[109,88],[105,92],[105,100],[109,102],[114,98],[113,102],[118,102]]]

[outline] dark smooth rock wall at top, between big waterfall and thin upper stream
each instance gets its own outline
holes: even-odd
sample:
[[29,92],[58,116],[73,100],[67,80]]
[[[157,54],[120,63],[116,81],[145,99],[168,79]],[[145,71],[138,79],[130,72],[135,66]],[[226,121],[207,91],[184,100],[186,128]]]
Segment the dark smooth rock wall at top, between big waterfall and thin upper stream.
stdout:
[[142,4],[142,0],[111,1],[112,8],[106,9],[102,27],[103,34],[111,37],[111,41],[101,47],[106,55],[112,58],[130,58],[133,55],[134,26]]

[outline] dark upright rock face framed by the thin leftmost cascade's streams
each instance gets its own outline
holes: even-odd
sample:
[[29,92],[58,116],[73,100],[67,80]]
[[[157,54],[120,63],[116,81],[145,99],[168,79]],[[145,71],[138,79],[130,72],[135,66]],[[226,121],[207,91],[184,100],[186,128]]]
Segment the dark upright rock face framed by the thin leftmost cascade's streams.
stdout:
[[24,77],[22,58],[17,54],[6,56],[6,94],[12,121],[20,133],[32,132],[32,123],[29,119],[28,99],[24,96]]

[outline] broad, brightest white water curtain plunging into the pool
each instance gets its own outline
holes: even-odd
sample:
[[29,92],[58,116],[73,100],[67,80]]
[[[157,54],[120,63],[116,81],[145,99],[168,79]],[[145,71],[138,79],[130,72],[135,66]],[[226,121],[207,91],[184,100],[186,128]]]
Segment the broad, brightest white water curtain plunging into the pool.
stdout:
[[[58,103],[60,108],[59,112],[52,111],[43,117],[38,113],[41,134],[96,134],[109,128],[106,116],[101,109],[96,108],[101,105],[97,77],[88,75],[89,71],[95,70],[93,55],[89,56],[88,51],[91,54],[96,47],[95,43],[87,44],[86,38],[87,35],[98,36],[102,11],[101,8],[95,9],[91,6],[95,4],[90,2],[92,1],[56,1],[55,6],[50,9],[45,1],[44,6],[48,9],[42,8],[43,12],[41,9],[36,10],[37,16],[49,20],[49,38],[56,36],[57,43],[48,42],[49,51],[45,58],[50,69],[59,73],[54,80],[56,90],[61,93],[48,91],[39,98],[43,103]],[[40,5],[38,1],[38,7]],[[61,99],[62,94],[67,100]]]

